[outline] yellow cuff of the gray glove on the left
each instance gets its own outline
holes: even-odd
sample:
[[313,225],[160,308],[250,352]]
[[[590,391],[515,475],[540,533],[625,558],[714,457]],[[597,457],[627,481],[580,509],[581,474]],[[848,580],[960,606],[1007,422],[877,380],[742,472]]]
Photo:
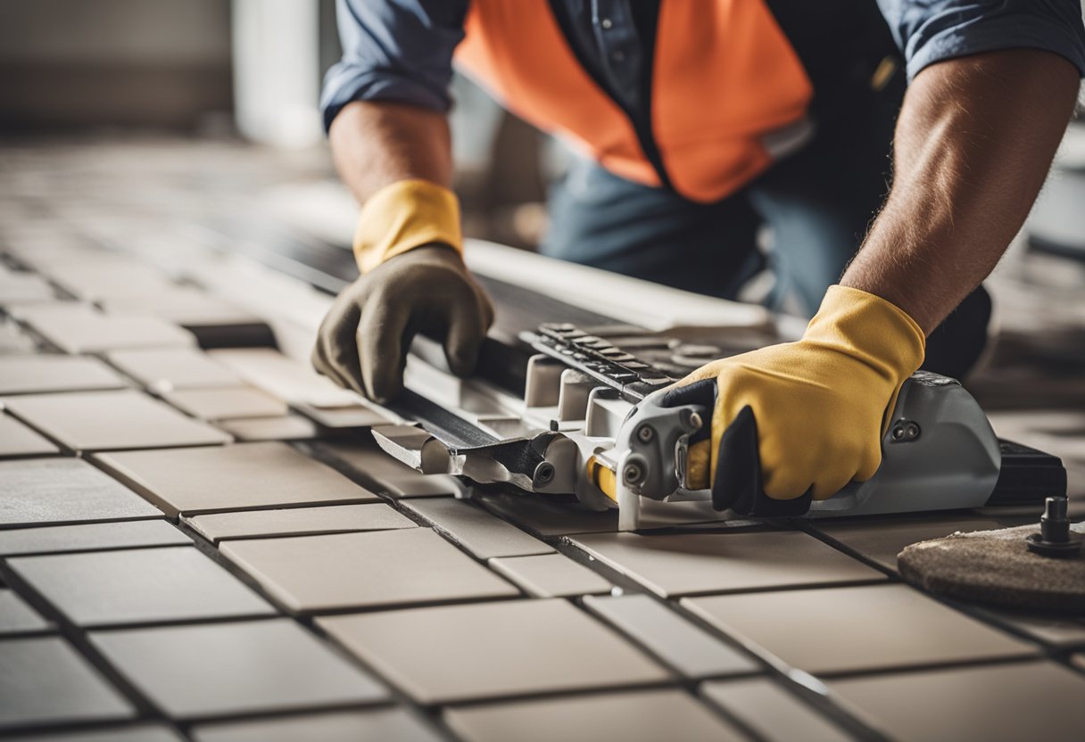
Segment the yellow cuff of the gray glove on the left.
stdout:
[[460,202],[429,180],[399,180],[366,202],[354,232],[354,257],[362,273],[414,247],[441,243],[463,254]]

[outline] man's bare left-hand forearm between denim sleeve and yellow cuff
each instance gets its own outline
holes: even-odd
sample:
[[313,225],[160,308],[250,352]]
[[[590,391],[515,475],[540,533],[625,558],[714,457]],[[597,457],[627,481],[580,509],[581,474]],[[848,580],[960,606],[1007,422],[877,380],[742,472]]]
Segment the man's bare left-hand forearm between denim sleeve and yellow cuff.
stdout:
[[451,187],[451,140],[444,114],[358,101],[340,111],[329,137],[340,177],[359,203],[407,178]]

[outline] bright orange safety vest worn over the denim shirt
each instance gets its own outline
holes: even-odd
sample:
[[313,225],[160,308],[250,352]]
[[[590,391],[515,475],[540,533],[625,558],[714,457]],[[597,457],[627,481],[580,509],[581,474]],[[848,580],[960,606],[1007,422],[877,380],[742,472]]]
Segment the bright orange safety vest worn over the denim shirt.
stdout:
[[[661,187],[642,139],[576,60],[546,0],[472,0],[457,62],[521,118],[562,136],[617,176]],[[651,137],[675,191],[711,203],[774,161],[803,130],[814,94],[764,0],[663,2]]]

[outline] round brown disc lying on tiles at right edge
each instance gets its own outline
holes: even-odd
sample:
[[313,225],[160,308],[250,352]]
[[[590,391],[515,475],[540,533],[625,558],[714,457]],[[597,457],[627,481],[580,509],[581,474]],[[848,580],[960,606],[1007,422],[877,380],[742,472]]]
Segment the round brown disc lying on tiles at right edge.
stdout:
[[[1081,533],[1082,524],[1074,526]],[[1027,525],[920,541],[897,555],[901,575],[947,598],[1007,607],[1085,613],[1085,555],[1051,559],[1029,551]]]

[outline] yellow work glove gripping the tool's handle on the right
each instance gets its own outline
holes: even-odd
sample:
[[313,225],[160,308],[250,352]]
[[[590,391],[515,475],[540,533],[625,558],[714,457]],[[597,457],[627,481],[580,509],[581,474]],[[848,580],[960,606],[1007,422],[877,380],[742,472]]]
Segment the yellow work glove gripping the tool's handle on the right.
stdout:
[[712,437],[690,447],[690,485],[718,482],[720,439],[748,406],[768,497],[812,490],[822,500],[852,479],[869,479],[881,465],[889,413],[924,344],[919,325],[893,304],[830,286],[802,340],[709,363],[678,383],[716,382]]

